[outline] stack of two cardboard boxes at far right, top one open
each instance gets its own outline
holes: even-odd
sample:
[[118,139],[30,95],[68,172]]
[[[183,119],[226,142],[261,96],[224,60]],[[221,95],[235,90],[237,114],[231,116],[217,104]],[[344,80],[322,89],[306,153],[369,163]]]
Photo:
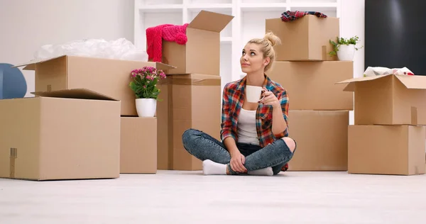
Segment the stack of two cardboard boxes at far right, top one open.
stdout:
[[348,79],[355,94],[349,125],[351,174],[425,174],[426,77]]

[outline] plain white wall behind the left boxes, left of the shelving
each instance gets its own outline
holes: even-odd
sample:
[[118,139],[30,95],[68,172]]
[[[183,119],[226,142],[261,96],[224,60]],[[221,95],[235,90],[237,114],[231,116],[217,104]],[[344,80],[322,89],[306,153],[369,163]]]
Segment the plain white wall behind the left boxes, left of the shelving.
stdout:
[[[133,42],[134,0],[0,0],[0,63],[33,59],[45,44],[85,38]],[[27,95],[34,72],[23,71]]]

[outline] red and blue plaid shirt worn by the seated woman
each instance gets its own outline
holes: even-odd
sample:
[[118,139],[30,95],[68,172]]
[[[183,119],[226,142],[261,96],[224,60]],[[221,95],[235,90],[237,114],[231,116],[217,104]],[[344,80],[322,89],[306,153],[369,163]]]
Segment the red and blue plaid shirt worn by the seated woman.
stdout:
[[[263,87],[268,91],[272,91],[281,103],[283,116],[288,123],[288,94],[283,87],[273,82],[269,77],[266,77]],[[246,88],[246,77],[243,79],[230,82],[224,86],[224,96],[222,99],[222,130],[220,136],[222,141],[225,138],[232,137],[235,142],[238,142],[238,133],[236,125],[238,123],[239,113],[244,103],[244,93]],[[283,133],[274,135],[272,133],[272,111],[271,105],[259,104],[256,112],[256,130],[258,134],[259,144],[265,147],[275,140],[288,136],[288,128]],[[288,169],[288,164],[285,164],[283,171]]]

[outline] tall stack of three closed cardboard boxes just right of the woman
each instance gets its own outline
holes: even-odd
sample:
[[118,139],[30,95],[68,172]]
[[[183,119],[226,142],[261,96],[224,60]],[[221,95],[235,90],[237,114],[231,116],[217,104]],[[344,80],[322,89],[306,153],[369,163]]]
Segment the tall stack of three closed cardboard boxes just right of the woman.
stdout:
[[339,36],[339,18],[307,15],[295,21],[266,20],[266,32],[281,39],[267,72],[289,96],[289,134],[297,150],[293,171],[346,171],[349,111],[353,93],[336,82],[353,77],[353,62],[330,57],[329,40]]

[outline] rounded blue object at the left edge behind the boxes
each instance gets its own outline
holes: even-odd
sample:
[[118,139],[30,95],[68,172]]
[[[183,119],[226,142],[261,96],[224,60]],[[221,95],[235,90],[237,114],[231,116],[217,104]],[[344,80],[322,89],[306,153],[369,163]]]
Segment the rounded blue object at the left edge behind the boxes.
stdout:
[[23,98],[27,91],[25,77],[20,69],[0,63],[0,99]]

